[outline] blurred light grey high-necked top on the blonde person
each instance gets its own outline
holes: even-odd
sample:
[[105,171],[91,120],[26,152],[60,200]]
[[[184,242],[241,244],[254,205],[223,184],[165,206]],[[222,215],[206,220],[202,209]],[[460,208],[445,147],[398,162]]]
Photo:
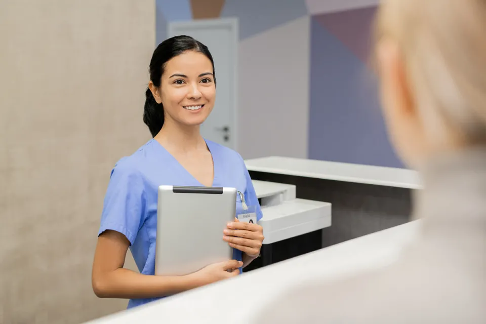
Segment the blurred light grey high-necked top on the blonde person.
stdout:
[[486,323],[486,147],[436,158],[414,193],[418,238],[392,265],[311,282],[258,323]]

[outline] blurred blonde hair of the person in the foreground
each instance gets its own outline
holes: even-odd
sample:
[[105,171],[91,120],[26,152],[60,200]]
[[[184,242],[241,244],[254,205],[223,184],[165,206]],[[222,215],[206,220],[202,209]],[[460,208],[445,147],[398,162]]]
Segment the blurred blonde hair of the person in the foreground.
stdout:
[[433,139],[486,142],[486,0],[382,0],[375,36],[400,47]]

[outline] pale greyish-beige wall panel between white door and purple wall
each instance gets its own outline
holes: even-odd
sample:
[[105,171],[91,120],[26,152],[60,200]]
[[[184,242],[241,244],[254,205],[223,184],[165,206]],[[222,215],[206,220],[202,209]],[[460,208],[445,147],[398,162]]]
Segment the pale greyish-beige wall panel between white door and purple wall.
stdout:
[[[240,41],[238,152],[243,158],[307,158],[309,48],[308,16]],[[265,87],[261,80],[268,80]]]

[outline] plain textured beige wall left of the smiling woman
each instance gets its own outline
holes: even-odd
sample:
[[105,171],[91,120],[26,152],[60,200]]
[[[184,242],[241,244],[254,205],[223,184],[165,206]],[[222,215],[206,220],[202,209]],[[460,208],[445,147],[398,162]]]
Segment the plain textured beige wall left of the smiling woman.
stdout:
[[0,322],[126,307],[91,265],[110,170],[149,138],[154,33],[153,0],[0,1]]

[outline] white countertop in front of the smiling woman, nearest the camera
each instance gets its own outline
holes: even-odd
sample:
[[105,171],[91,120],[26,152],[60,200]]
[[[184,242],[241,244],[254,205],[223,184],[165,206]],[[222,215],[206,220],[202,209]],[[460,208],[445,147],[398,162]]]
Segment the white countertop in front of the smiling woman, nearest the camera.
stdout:
[[92,323],[246,323],[259,305],[304,280],[336,278],[393,262],[419,226],[414,221],[348,240]]

